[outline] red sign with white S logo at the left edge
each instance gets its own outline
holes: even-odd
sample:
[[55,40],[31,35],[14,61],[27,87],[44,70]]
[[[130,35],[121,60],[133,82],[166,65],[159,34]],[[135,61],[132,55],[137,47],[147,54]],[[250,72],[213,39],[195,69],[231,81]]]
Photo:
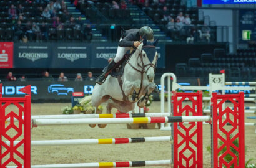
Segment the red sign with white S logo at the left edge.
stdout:
[[13,67],[13,42],[0,42],[0,68]]

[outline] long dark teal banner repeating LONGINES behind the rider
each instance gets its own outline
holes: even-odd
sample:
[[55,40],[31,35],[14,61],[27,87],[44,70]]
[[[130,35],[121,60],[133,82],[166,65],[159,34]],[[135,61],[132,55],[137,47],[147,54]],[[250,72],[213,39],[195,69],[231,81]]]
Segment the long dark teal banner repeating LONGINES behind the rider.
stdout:
[[[14,44],[14,68],[104,68],[116,55],[117,43]],[[165,66],[165,45],[158,44],[158,68]]]

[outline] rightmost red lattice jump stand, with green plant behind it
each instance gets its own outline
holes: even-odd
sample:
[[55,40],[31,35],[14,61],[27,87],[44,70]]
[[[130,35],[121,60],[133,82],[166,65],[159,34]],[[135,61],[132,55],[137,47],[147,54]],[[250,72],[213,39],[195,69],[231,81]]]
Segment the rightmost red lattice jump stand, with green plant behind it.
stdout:
[[[234,105],[234,110],[229,107],[223,109],[222,104],[225,101],[230,101]],[[230,126],[227,126],[227,123]],[[234,144],[237,138],[239,146]],[[212,167],[245,167],[244,138],[244,93],[234,95],[212,93]],[[237,151],[238,156],[234,151]],[[233,157],[229,163],[224,160],[227,155]]]

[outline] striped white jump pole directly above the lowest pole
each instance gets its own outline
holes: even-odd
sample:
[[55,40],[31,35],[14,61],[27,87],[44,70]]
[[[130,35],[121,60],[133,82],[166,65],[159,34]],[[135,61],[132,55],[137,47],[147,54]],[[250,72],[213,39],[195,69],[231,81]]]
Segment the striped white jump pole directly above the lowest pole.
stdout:
[[[139,138],[107,138],[107,139],[67,139],[67,140],[41,140],[31,141],[31,146],[73,146],[73,145],[88,145],[88,144],[130,144],[142,142],[160,142],[170,141],[171,136],[153,136],[153,137],[139,137]],[[14,141],[16,146],[20,141]],[[5,142],[8,146],[9,141]]]

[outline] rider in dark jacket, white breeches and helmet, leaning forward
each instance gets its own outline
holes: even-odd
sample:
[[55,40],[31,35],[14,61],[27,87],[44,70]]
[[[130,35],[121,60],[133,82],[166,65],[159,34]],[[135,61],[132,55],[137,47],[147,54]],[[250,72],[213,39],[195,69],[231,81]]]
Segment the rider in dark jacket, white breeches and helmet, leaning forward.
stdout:
[[148,26],[141,27],[140,29],[122,30],[121,38],[117,47],[116,57],[111,60],[109,65],[107,65],[106,70],[104,70],[104,72],[96,79],[96,82],[99,85],[105,81],[111,70],[116,68],[118,63],[124,57],[124,54],[126,54],[131,47],[137,48],[140,45],[140,40],[144,35],[147,37],[147,40],[153,42],[153,30]]

